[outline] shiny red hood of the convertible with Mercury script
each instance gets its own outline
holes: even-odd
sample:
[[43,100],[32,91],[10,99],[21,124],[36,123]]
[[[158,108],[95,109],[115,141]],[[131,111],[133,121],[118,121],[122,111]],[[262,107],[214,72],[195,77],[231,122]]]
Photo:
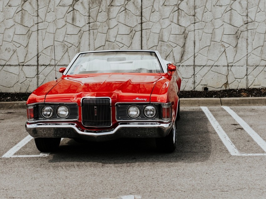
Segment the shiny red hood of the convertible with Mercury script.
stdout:
[[[110,97],[115,102],[150,101],[159,73],[64,76],[46,95],[46,102],[77,102],[82,97]],[[60,95],[59,95],[60,94]]]

